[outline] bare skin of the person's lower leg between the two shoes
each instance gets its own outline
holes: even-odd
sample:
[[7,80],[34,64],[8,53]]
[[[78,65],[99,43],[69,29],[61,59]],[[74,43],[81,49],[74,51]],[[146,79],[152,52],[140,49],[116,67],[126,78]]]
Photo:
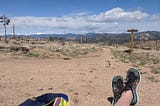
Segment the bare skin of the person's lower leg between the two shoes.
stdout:
[[132,99],[132,91],[124,91],[114,106],[130,106]]

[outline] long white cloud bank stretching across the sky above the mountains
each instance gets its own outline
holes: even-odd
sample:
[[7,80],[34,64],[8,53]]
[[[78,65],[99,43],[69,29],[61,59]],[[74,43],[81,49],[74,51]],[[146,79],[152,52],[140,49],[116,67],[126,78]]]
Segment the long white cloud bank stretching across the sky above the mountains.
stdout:
[[64,17],[13,17],[17,33],[86,33],[86,32],[125,32],[135,27],[140,30],[158,30],[160,14],[125,11],[113,8],[99,14],[77,13]]

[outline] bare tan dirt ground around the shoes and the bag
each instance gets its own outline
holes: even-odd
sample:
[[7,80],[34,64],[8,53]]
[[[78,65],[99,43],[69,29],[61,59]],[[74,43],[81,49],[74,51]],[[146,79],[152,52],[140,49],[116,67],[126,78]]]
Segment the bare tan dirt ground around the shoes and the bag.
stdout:
[[[71,106],[111,106],[111,81],[125,77],[131,63],[115,59],[111,50],[88,58],[40,59],[0,55],[0,106],[16,106],[27,98],[44,93],[66,93]],[[147,72],[141,67],[141,72]],[[142,74],[139,106],[159,106],[160,82],[151,82]]]

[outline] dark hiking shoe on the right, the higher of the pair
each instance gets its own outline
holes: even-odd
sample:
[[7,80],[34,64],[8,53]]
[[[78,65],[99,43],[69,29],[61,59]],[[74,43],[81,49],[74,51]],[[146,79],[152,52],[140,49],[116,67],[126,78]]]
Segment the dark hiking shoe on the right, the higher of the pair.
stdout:
[[130,68],[126,76],[125,90],[131,90],[133,99],[131,105],[135,105],[138,102],[137,88],[140,82],[140,72],[135,68]]

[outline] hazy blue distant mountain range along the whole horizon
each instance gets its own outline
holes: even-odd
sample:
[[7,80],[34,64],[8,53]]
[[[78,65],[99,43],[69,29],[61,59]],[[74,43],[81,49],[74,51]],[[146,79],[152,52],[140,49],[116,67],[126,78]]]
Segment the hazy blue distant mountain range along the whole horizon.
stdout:
[[[9,35],[11,36],[11,35]],[[21,35],[26,36],[26,35]],[[80,37],[83,36],[83,42],[85,43],[126,43],[129,42],[130,33],[86,33],[86,34],[32,34],[27,35],[33,38],[53,38],[56,40],[72,40],[79,41]],[[140,40],[160,40],[160,31],[145,31],[135,33],[135,41]]]

